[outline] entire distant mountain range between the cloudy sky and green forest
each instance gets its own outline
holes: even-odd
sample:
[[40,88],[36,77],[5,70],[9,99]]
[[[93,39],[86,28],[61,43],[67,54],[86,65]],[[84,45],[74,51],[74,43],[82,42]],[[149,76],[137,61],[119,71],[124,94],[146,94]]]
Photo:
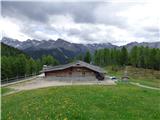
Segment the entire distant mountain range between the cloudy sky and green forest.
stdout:
[[[9,46],[18,48],[33,58],[39,58],[42,55],[53,55],[61,63],[67,61],[70,58],[75,57],[76,55],[84,55],[87,50],[91,53],[94,53],[97,49],[103,48],[121,48],[123,46],[112,45],[111,43],[93,43],[93,44],[77,44],[70,43],[63,39],[57,40],[35,40],[28,39],[26,41],[19,41],[17,39],[12,39],[8,37],[3,37],[1,40],[2,43],[5,43]],[[131,49],[134,46],[148,46],[150,48],[160,48],[160,42],[132,42],[127,45],[124,45],[127,49]]]

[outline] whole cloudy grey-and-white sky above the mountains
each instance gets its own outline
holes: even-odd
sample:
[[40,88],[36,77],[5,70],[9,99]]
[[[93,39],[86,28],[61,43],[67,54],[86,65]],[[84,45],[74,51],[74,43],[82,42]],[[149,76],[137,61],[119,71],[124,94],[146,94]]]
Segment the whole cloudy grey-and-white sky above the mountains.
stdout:
[[160,41],[158,0],[1,1],[2,37],[72,43]]

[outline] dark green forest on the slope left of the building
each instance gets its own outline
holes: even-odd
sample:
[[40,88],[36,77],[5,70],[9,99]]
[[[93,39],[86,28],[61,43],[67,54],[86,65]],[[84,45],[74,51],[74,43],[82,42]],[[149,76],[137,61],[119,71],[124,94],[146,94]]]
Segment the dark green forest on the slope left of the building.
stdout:
[[1,43],[1,79],[38,74],[43,65],[58,65],[59,62],[50,55],[32,59],[24,52]]

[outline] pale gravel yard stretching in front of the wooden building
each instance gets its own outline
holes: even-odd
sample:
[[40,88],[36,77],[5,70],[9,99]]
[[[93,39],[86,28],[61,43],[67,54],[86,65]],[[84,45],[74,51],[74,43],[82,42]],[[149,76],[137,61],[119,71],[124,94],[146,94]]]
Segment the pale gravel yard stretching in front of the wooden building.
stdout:
[[9,88],[15,89],[15,90],[30,90],[30,89],[37,89],[37,88],[43,88],[43,87],[49,87],[49,86],[65,86],[65,85],[115,85],[114,81],[111,80],[105,80],[105,81],[52,81],[52,80],[45,80],[43,78],[35,78],[34,80],[21,82],[18,84],[12,84],[8,86]]

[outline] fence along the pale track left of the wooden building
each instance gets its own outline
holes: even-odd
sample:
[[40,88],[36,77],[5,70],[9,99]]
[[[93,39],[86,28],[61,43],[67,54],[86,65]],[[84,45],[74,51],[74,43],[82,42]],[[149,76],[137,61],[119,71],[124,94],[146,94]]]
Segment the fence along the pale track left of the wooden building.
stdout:
[[25,76],[17,76],[17,77],[13,77],[13,78],[7,78],[7,79],[3,79],[1,80],[1,85],[7,84],[7,83],[12,83],[12,82],[17,82],[17,81],[22,81],[25,80],[27,78],[31,78],[34,76],[39,75],[39,73],[34,73],[34,74],[30,74],[30,75],[25,75]]

